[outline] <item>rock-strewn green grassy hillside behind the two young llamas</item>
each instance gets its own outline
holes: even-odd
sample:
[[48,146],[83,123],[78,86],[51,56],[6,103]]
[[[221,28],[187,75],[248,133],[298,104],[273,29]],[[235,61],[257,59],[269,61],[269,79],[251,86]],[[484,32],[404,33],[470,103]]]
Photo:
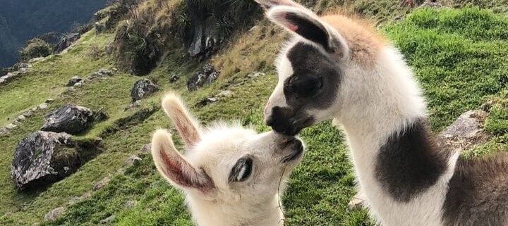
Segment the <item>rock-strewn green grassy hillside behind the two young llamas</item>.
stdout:
[[[354,9],[362,2],[347,6]],[[343,3],[315,1],[321,10]],[[439,131],[464,111],[478,109],[492,100],[486,127],[494,137],[464,155],[508,151],[506,15],[480,8],[421,9],[398,23],[390,23],[391,19],[385,19],[387,11],[370,11],[391,7],[385,3],[380,1],[369,6],[365,12],[370,14],[364,15],[388,24],[381,32],[401,49],[416,72],[429,102],[433,129]],[[399,9],[403,14],[409,11]],[[262,123],[262,108],[277,80],[272,62],[287,35],[265,20],[258,21],[257,27],[234,34],[226,48],[212,56],[210,61],[222,72],[220,79],[198,91],[188,92],[186,79],[205,62],[182,57],[184,50],[180,47],[170,49],[157,68],[145,77],[157,81],[163,91],[181,92],[191,110],[205,123],[237,118],[256,130],[268,130]],[[0,137],[0,225],[192,225],[183,196],[158,175],[150,155],[142,155],[142,161],[128,166],[125,172],[117,172],[129,156],[150,142],[153,131],[171,127],[167,116],[157,110],[163,92],[143,100],[138,108],[124,111],[131,103],[130,89],[140,77],[118,72],[59,95],[73,75],[87,77],[99,68],[114,68],[114,57],[107,54],[95,57],[97,51],[106,52],[114,36],[113,33],[96,35],[92,30],[71,51],[35,63],[28,75],[0,88],[1,126],[46,99],[55,99],[49,109],[37,112],[11,134]],[[266,75],[248,76],[255,72]],[[170,83],[173,74],[181,79]],[[204,107],[196,106],[202,99],[225,89],[234,95]],[[18,192],[10,179],[17,142],[40,128],[44,114],[63,103],[104,108],[109,113],[108,120],[78,136],[80,139],[102,137],[104,151],[60,182],[37,191]],[[142,109],[150,112],[147,118],[119,123]],[[374,225],[365,210],[347,208],[356,190],[344,135],[327,122],[304,130],[301,137],[308,151],[291,176],[284,196],[287,225]],[[111,180],[105,187],[70,203],[71,199],[91,192],[97,182],[108,176]],[[45,222],[44,215],[59,206],[68,209],[54,222]]]

